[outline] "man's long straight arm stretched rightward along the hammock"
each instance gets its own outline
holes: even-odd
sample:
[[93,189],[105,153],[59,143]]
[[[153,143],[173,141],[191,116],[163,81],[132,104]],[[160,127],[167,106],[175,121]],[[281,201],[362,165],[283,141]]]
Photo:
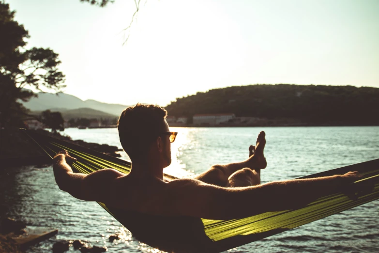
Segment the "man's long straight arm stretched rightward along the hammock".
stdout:
[[239,219],[305,206],[359,178],[360,174],[350,172],[243,188],[221,188],[193,179],[179,179],[167,184],[167,208],[163,212],[214,220]]

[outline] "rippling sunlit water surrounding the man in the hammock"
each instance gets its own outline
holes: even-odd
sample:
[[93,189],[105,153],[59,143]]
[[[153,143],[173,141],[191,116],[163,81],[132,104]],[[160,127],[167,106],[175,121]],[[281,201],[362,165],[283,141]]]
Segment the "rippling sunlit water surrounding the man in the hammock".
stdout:
[[[295,178],[379,158],[379,127],[171,127],[179,132],[171,145],[172,164],[165,173],[193,176],[213,164],[248,157],[260,130],[266,132],[268,166],[262,183]],[[121,148],[116,128],[64,132],[74,140],[106,143]],[[128,159],[121,152],[123,159]],[[28,252],[43,253],[57,239],[82,239],[106,246],[108,252],[156,252],[136,241],[120,223],[93,202],[76,200],[58,189],[52,168],[7,168],[0,171],[0,208],[33,225],[59,229],[59,234]],[[1,210],[1,209],[0,209]],[[230,252],[378,252],[379,201],[345,211],[303,227],[253,242]],[[152,228],[149,228],[152,229]],[[156,229],[159,233],[159,228]],[[121,232],[119,241],[107,237]]]

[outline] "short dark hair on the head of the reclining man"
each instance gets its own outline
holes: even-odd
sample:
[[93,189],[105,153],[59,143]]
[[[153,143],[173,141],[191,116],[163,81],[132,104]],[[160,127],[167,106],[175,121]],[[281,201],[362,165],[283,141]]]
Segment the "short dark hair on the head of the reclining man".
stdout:
[[145,159],[148,146],[164,131],[167,111],[159,106],[136,104],[122,111],[117,128],[122,148],[132,160]]

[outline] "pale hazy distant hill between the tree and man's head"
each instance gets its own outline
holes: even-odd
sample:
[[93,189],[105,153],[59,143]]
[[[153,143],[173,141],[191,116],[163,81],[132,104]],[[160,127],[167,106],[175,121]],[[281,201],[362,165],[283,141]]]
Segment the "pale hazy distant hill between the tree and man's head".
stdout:
[[127,107],[120,104],[107,104],[95,100],[83,101],[74,95],[60,93],[38,93],[38,97],[32,97],[28,102],[22,102],[31,111],[66,111],[79,108],[89,108],[103,111],[115,116],[120,116],[121,112]]

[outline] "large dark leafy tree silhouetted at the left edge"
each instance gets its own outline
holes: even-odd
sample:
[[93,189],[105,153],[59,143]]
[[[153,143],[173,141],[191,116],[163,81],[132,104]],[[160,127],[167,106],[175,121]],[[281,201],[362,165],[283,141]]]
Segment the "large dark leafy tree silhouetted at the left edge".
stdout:
[[19,126],[27,114],[19,100],[37,95],[23,88],[58,93],[65,87],[58,54],[50,48],[28,49],[29,32],[14,18],[15,11],[0,1],[0,127]]

